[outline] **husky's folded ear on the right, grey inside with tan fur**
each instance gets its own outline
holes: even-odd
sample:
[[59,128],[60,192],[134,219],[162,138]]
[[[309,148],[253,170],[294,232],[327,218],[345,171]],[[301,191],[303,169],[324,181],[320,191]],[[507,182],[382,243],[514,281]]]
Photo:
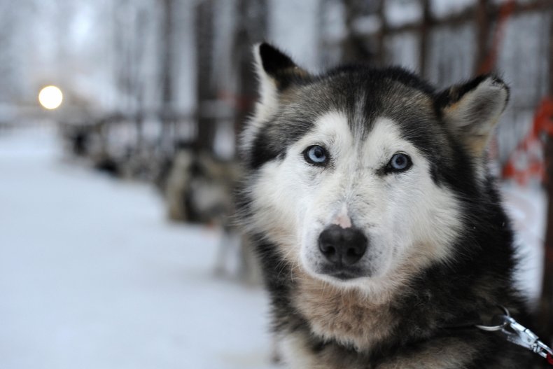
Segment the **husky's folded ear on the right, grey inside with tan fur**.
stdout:
[[453,134],[474,157],[481,158],[508,101],[507,85],[496,76],[484,75],[440,92],[436,104]]

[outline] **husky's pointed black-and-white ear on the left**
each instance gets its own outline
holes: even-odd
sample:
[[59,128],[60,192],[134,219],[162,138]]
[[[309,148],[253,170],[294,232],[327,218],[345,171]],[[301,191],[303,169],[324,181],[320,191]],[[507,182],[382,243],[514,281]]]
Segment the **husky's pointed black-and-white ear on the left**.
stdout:
[[276,109],[279,94],[309,78],[309,73],[297,67],[288,55],[269,43],[259,43],[253,47],[255,71],[259,78],[260,104],[265,110]]

